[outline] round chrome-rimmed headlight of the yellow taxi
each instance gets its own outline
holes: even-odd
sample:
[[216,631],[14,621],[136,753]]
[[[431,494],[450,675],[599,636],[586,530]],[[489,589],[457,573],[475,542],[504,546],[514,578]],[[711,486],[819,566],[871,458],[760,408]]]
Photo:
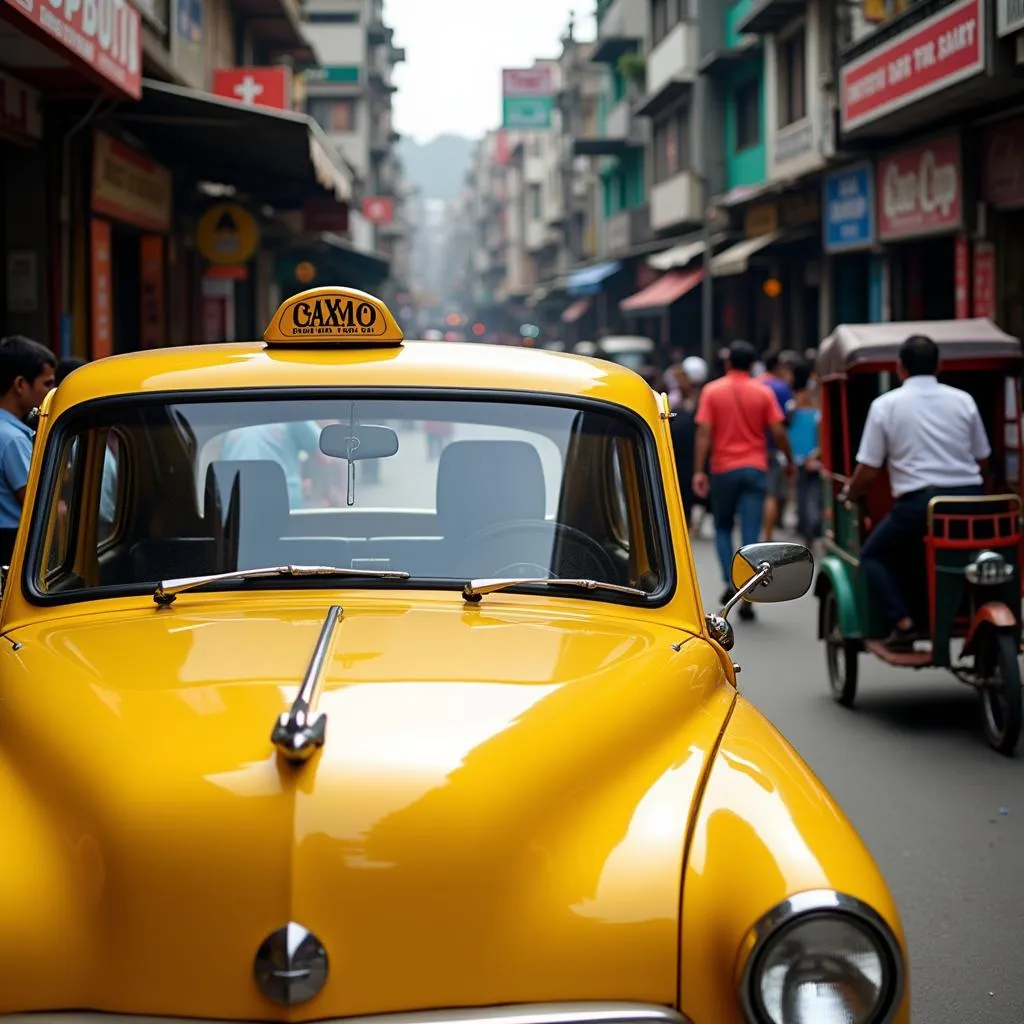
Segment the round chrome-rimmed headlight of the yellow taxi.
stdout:
[[827,890],[765,914],[740,963],[754,1024],[886,1024],[902,992],[903,957],[889,927],[859,900]]

